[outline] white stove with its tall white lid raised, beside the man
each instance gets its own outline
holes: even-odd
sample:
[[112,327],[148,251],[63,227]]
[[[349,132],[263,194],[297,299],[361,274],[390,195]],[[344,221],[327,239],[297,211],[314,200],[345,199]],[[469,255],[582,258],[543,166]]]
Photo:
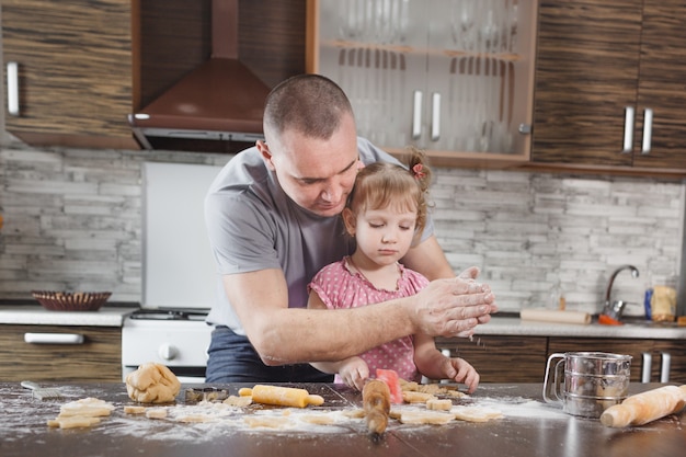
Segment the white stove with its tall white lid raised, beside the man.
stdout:
[[205,323],[217,276],[203,204],[221,167],[144,163],[142,301],[122,329],[123,376],[167,365],[182,382],[204,382],[213,328]]

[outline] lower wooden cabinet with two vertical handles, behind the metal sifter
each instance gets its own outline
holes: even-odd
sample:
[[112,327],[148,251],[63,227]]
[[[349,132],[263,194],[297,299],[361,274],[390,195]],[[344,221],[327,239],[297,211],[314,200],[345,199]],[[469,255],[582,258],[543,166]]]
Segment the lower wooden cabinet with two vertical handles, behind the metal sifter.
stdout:
[[647,381],[660,381],[666,358],[670,359],[668,380],[686,384],[686,341],[550,338],[548,355],[564,352],[608,352],[631,355],[631,381],[641,382],[643,373],[650,373]]

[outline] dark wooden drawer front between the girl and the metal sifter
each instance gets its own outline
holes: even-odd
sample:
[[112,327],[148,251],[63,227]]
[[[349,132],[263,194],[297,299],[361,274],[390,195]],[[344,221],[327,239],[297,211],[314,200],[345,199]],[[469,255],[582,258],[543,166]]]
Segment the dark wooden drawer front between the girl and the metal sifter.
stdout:
[[481,376],[481,382],[542,382],[546,372],[546,336],[480,335],[436,339],[436,347],[462,357]]

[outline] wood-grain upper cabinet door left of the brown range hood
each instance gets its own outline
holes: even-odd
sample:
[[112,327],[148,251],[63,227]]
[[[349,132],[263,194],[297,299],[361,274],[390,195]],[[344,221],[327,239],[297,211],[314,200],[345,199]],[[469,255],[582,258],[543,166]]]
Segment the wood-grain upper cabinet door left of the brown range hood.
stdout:
[[33,145],[134,147],[132,0],[2,0],[5,128]]

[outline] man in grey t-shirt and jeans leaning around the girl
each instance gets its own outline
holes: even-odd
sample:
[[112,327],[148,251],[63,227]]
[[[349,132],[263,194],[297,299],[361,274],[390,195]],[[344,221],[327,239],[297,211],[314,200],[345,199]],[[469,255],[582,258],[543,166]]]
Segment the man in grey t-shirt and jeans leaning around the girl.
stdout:
[[490,288],[475,281],[477,269],[455,278],[432,224],[403,258],[432,279],[421,293],[363,308],[308,310],[308,282],[354,250],[340,213],[357,170],[396,160],[357,138],[350,101],[321,76],[274,88],[263,123],[265,141],[229,161],[205,202],[221,277],[207,317],[217,325],[208,382],[331,380],[307,362],[342,359],[418,332],[467,336],[490,320],[496,311]]

